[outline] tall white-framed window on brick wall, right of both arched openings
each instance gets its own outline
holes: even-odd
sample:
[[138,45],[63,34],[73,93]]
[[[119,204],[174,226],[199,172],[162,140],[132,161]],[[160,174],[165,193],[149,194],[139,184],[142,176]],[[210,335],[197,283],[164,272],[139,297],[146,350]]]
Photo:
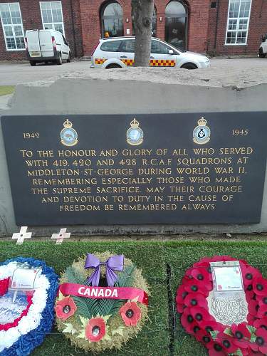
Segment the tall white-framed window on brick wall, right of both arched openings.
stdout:
[[251,0],[229,0],[226,44],[246,44]]

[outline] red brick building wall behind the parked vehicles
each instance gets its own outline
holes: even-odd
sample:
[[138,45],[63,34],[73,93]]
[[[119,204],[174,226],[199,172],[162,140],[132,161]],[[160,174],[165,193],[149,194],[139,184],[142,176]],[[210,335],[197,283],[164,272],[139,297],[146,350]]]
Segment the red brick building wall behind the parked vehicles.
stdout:
[[[19,2],[23,29],[43,28],[38,0],[0,0],[0,4]],[[124,34],[132,34],[130,0],[117,0],[122,6]],[[90,56],[101,36],[102,0],[61,0],[65,35],[75,57]],[[157,37],[165,36],[165,8],[169,0],[155,0]],[[246,45],[226,45],[229,0],[184,0],[188,9],[187,50],[233,55],[256,54],[261,35],[267,33],[267,0],[252,0]],[[212,3],[212,7],[211,7]],[[215,5],[215,6],[214,6]],[[127,31],[128,30],[128,31]],[[26,58],[25,51],[6,51],[0,27],[0,61]]]

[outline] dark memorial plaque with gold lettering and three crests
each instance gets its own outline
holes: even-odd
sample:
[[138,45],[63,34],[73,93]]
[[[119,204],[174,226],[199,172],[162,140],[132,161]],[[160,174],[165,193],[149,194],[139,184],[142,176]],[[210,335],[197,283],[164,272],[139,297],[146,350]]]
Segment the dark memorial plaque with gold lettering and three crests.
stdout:
[[261,220],[266,112],[1,117],[16,224]]

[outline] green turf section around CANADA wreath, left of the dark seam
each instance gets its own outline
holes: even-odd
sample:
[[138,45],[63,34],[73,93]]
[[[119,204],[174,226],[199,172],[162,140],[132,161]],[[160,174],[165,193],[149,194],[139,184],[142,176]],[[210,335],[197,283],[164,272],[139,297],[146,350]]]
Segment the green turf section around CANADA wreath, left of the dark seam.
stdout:
[[[168,322],[168,295],[167,275],[164,266],[164,253],[162,244],[138,242],[65,242],[56,246],[52,242],[26,241],[22,246],[12,242],[0,242],[0,261],[16,256],[32,256],[46,261],[53,266],[56,273],[62,273],[79,256],[86,253],[104,252],[123,253],[142,269],[142,275],[147,279],[150,289],[150,320],[142,332],[127,342],[122,350],[104,352],[102,355],[169,355],[169,322]],[[85,355],[82,350],[75,350],[64,335],[54,328],[51,335],[46,337],[43,344],[32,355]],[[91,355],[91,354],[88,354]]]

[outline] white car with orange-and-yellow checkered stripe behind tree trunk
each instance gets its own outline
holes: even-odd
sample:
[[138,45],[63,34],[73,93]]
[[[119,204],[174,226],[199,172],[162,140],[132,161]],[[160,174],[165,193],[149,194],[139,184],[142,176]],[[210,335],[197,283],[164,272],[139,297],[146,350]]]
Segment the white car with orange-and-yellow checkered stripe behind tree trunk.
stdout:
[[[91,53],[91,68],[125,68],[133,66],[134,59],[134,36],[102,38]],[[169,43],[152,37],[150,66],[197,69],[207,68],[210,63],[206,56],[179,51]]]

